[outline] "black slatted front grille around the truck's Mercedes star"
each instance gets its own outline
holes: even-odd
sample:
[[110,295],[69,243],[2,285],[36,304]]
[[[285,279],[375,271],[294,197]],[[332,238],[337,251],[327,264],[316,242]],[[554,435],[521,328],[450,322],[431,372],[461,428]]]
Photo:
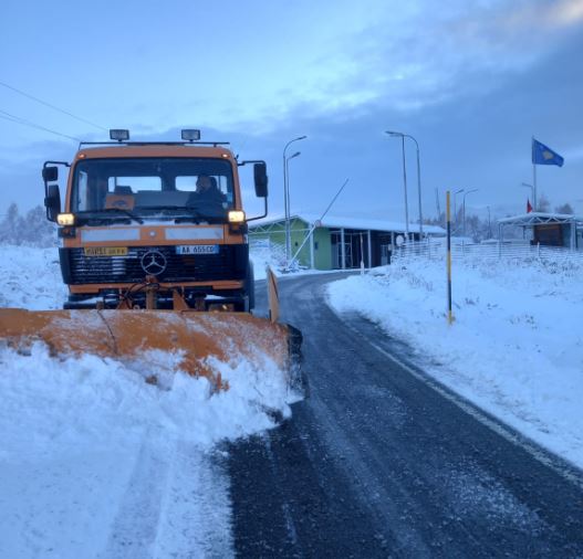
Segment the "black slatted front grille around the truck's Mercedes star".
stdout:
[[140,283],[146,273],[142,256],[158,251],[166,257],[166,270],[156,276],[160,282],[207,282],[243,280],[244,267],[237,251],[241,245],[219,245],[219,254],[176,254],[175,246],[129,247],[127,256],[85,256],[83,249],[69,250],[71,284]]

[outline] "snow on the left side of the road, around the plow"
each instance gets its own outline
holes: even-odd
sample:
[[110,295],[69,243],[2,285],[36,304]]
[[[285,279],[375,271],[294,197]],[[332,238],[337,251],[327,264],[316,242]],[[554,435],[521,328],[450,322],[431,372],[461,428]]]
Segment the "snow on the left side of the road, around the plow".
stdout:
[[[54,249],[0,254],[1,307],[61,307]],[[179,371],[148,384],[142,365],[0,347],[0,557],[232,556],[217,443],[272,428],[294,394],[268,359],[215,362],[230,390],[212,397]]]

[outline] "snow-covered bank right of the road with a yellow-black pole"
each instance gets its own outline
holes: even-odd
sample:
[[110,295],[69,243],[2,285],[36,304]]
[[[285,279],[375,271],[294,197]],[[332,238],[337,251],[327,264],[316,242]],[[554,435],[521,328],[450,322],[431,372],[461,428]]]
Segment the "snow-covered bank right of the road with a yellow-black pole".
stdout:
[[409,342],[423,368],[583,467],[583,262],[395,262],[330,285],[331,305]]

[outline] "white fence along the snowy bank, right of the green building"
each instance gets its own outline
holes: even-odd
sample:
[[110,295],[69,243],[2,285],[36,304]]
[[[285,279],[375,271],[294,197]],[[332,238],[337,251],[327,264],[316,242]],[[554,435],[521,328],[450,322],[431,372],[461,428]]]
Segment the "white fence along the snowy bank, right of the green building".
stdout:
[[[445,259],[445,240],[427,239],[421,242],[405,243],[393,252],[392,259]],[[572,251],[560,246],[530,245],[527,243],[455,243],[451,245],[452,260],[537,260],[549,262],[573,261],[583,263],[583,251]]]

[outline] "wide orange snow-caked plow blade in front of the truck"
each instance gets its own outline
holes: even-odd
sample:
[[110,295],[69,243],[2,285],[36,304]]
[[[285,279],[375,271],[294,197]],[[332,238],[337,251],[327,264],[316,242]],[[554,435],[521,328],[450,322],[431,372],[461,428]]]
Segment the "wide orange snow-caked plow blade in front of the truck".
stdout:
[[147,359],[153,350],[174,352],[179,369],[208,378],[216,390],[228,386],[214,370],[212,358],[226,363],[247,359],[258,368],[269,358],[291,375],[301,346],[301,334],[292,326],[244,313],[196,310],[2,308],[0,339],[21,351],[41,340],[55,357],[92,354],[125,360]]

